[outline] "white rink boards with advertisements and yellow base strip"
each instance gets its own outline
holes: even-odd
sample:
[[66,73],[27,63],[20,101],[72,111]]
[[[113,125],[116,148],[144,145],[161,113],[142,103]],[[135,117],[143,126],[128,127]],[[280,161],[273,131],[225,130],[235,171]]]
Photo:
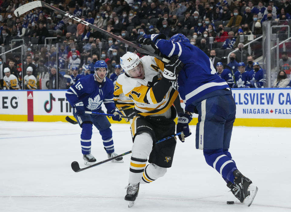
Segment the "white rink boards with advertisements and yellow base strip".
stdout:
[[[290,88],[232,89],[232,95],[236,102],[235,126],[291,127]],[[106,112],[104,105],[102,108]],[[73,118],[65,90],[0,91],[0,121],[65,122],[66,116]],[[194,114],[190,124],[197,121],[198,115]]]

